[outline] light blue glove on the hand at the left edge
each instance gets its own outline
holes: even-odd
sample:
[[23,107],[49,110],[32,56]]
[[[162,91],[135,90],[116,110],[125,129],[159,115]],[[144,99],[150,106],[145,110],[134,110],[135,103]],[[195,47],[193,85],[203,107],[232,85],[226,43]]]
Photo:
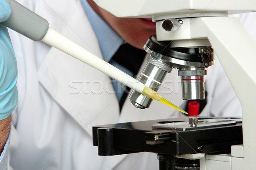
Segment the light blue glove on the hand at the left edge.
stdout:
[[[0,22],[7,20],[10,13],[6,0],[0,0]],[[7,28],[0,24],[0,120],[7,118],[17,104],[16,82],[17,63],[12,43]]]

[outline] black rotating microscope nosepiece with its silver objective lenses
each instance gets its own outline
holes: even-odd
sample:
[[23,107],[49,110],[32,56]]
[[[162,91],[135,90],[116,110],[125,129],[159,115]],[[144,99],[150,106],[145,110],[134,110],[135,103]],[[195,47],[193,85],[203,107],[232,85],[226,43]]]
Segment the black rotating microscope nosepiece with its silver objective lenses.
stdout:
[[[175,47],[172,41],[157,41],[156,35],[149,37],[144,45],[148,52],[147,63],[140,74],[139,81],[157,91],[163,79],[172,68],[179,69],[182,99],[204,99],[204,75],[206,68],[214,64],[214,53],[209,46]],[[131,103],[137,108],[148,108],[152,102],[147,96],[132,91]]]

